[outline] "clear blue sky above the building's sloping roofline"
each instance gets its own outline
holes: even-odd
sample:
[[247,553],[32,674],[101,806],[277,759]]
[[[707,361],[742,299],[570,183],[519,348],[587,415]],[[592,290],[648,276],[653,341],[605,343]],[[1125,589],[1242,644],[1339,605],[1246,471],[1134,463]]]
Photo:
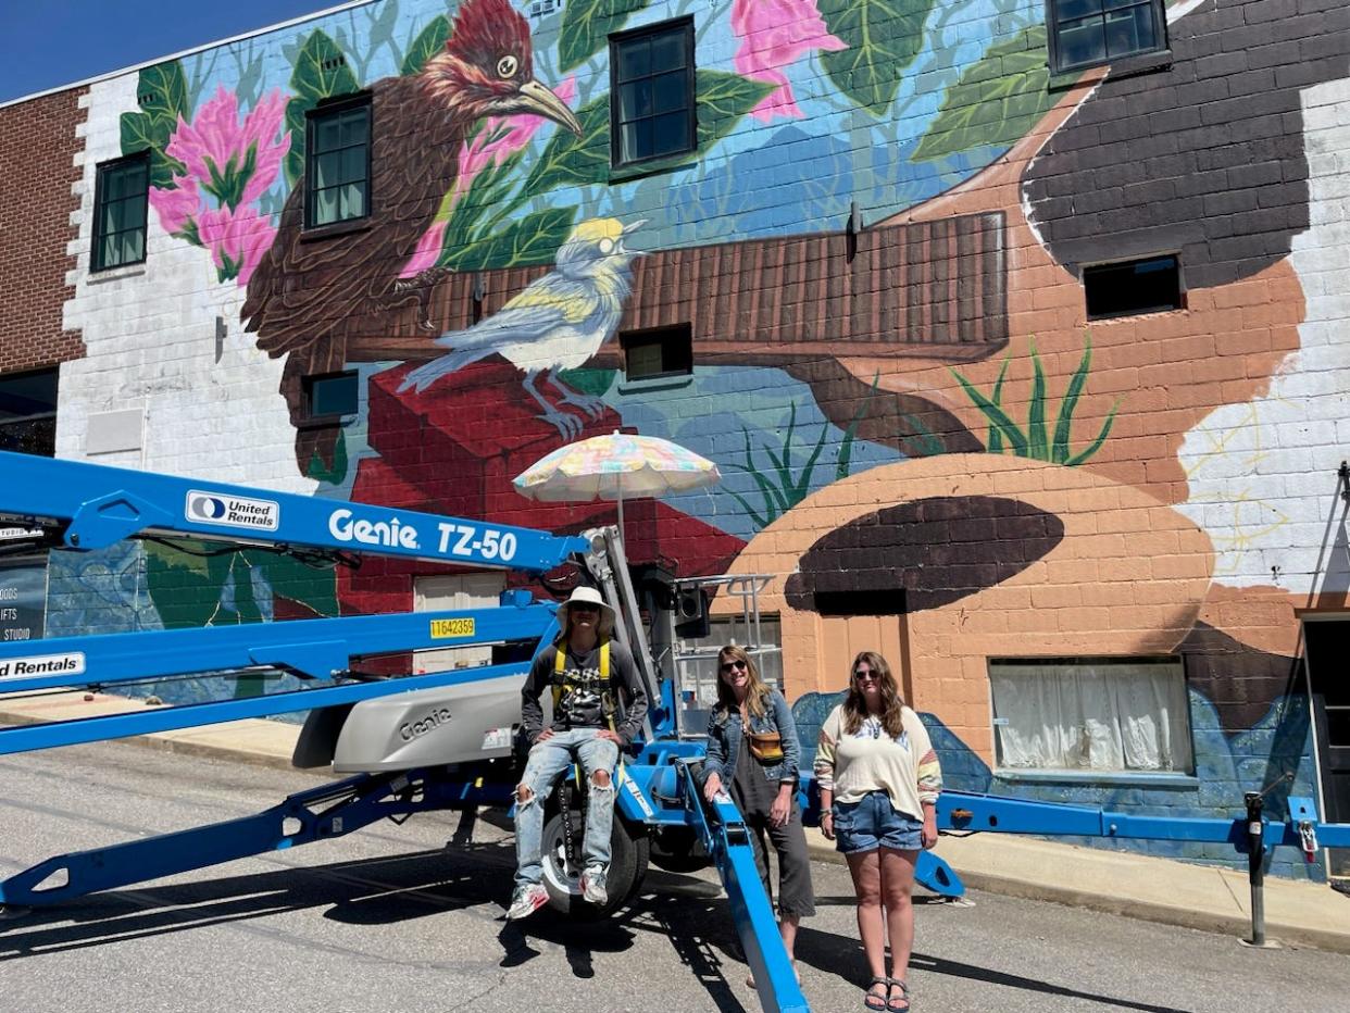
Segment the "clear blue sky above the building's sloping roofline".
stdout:
[[342,0],[0,0],[0,103],[263,28]]

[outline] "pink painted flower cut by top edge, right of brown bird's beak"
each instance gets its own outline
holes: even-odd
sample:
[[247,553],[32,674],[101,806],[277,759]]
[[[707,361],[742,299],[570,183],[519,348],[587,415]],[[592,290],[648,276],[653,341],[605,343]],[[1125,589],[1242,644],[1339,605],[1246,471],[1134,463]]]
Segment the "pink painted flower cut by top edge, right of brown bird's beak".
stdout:
[[732,31],[741,41],[733,61],[736,72],[752,81],[778,85],[751,109],[764,123],[775,116],[803,116],[784,68],[807,53],[848,49],[825,27],[815,0],[732,0]]

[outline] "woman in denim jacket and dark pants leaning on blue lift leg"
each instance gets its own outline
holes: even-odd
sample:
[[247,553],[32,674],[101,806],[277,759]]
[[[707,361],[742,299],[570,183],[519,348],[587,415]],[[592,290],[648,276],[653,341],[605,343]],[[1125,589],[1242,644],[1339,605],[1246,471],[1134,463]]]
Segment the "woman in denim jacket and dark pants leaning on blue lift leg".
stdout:
[[[760,678],[742,648],[724,647],[717,655],[717,706],[707,721],[703,796],[711,801],[718,791],[730,793],[751,829],[755,864],[771,898],[765,833],[778,851],[778,929],[795,967],[796,925],[815,914],[811,862],[796,805],[802,754],[796,724],[783,694]],[[745,983],[755,987],[753,978]]]

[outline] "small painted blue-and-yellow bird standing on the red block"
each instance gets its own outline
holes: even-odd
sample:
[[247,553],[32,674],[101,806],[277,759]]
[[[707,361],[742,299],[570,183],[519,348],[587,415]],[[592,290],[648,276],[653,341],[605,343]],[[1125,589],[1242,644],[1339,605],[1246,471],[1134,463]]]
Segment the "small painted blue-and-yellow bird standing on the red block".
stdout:
[[643,224],[639,220],[625,226],[612,217],[582,222],[558,249],[552,271],[532,281],[486,320],[437,338],[436,344],[450,351],[409,373],[400,392],[425,390],[470,362],[497,354],[525,374],[521,385],[544,409],[539,417],[566,439],[578,435],[582,420],[549,402],[535,378],[547,374],[560,402],[593,419],[599,416],[602,401],[572,390],[555,371],[580,366],[618,328],[633,286],[633,259],[641,255],[624,246],[624,236]]

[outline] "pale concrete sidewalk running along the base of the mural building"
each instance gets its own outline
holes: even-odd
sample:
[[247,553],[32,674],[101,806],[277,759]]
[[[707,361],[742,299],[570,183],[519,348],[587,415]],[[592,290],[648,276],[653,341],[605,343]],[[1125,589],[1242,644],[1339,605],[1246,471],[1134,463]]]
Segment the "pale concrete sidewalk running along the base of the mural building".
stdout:
[[[76,717],[143,710],[139,700],[105,694],[65,693],[38,698],[0,696],[0,724],[32,724]],[[177,732],[159,732],[126,742],[173,752],[290,767],[300,725],[244,720]],[[259,808],[277,800],[259,800]],[[840,862],[834,846],[807,828],[813,858]],[[1250,890],[1245,871],[1187,864],[1120,851],[1081,848],[1019,837],[980,833],[944,836],[937,854],[967,886],[992,893],[1054,901],[1126,914],[1169,925],[1250,935]],[[1350,954],[1350,897],[1327,886],[1268,878],[1265,881],[1266,939]]]

